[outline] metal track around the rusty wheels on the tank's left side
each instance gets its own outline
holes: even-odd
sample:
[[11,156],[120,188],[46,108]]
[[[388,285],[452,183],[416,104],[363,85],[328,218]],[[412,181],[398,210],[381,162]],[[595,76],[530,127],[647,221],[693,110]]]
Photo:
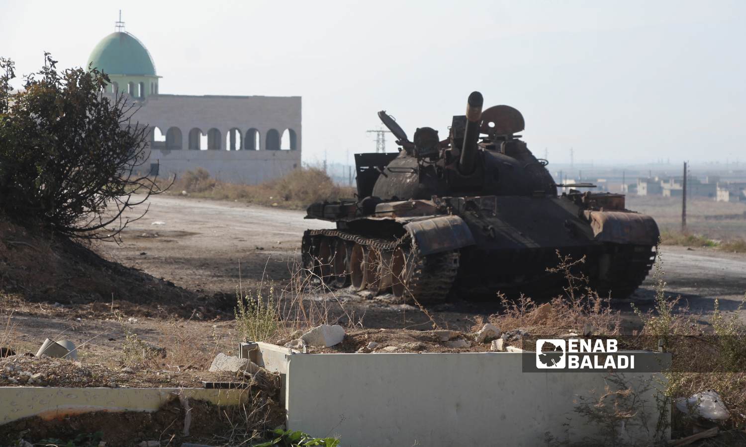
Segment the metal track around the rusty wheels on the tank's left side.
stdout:
[[436,304],[445,301],[456,280],[460,253],[451,250],[444,253],[421,256],[413,247],[410,235],[398,239],[368,238],[339,229],[309,229],[303,236],[304,265],[310,265],[312,257],[310,250],[313,237],[324,236],[339,238],[343,241],[354,242],[363,247],[373,247],[377,250],[395,250],[401,247],[407,253],[410,263],[410,275],[406,279],[407,293],[402,302],[422,305]]

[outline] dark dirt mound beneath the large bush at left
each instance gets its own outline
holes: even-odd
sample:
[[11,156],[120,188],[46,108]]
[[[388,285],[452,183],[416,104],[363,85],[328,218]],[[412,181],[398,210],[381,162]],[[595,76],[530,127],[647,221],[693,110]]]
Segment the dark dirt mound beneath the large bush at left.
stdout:
[[112,301],[128,314],[216,314],[208,297],[107,261],[81,243],[32,232],[5,218],[0,218],[0,277],[5,299],[82,305],[87,314],[110,311]]

